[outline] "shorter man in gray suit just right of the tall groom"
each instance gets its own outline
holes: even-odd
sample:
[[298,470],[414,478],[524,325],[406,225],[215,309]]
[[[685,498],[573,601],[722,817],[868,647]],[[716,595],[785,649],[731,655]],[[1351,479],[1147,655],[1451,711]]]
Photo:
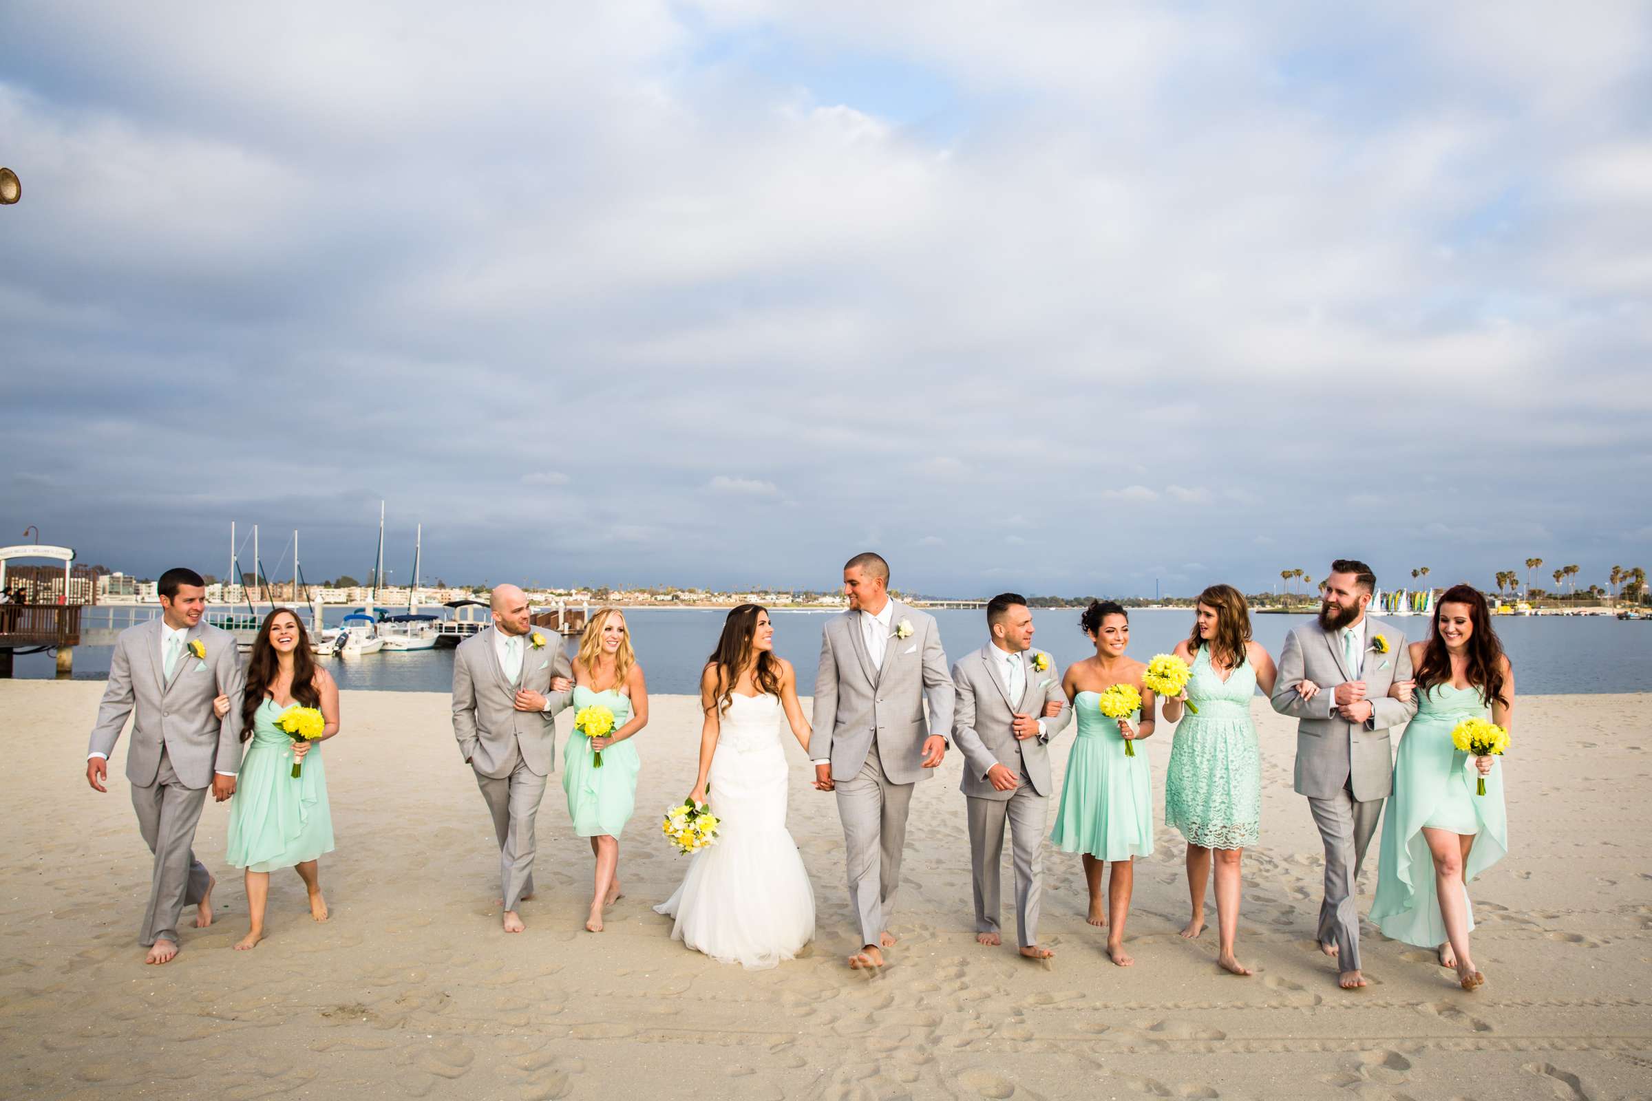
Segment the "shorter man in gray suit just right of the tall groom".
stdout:
[[1016,941],[1028,959],[1049,959],[1056,952],[1037,943],[1041,853],[1054,787],[1044,746],[1072,721],[1072,708],[1054,660],[1032,650],[1026,598],[1001,593],[988,601],[986,629],[986,645],[952,667],[958,692],[952,740],[963,753],[960,789],[970,825],[975,939],[990,947],[1001,943],[998,886],[1008,820]]

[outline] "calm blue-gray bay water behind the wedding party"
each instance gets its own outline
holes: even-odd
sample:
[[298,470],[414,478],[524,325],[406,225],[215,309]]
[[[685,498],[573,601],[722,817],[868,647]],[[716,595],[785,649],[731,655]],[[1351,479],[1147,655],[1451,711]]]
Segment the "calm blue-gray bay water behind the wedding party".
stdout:
[[[814,685],[819,659],[821,627],[836,612],[775,612],[775,650],[796,665],[803,693]],[[981,611],[940,609],[930,612],[940,624],[947,660],[986,642],[986,614]],[[329,609],[337,622],[340,609]],[[705,657],[717,645],[727,612],[724,609],[634,609],[626,612],[631,642],[648,673],[651,692],[692,693]],[[1257,642],[1279,657],[1285,632],[1307,622],[1308,616],[1254,616]],[[1047,650],[1066,667],[1094,654],[1079,631],[1079,609],[1037,609],[1034,645]],[[1146,660],[1168,652],[1186,637],[1193,614],[1180,609],[1135,611],[1130,616],[1130,654]],[[1396,631],[1416,640],[1427,631],[1419,616],[1388,621]],[[1497,632],[1515,665],[1515,683],[1521,693],[1569,695],[1596,692],[1652,692],[1652,622],[1621,622],[1609,617],[1531,616],[1500,617]],[[573,639],[567,640],[572,652]],[[112,647],[83,645],[74,650],[76,680],[102,680],[109,675]],[[370,654],[360,659],[324,659],[342,688],[375,688],[387,692],[448,692],[453,685],[453,650],[415,654]],[[46,654],[17,659],[17,677],[50,678],[53,659]]]

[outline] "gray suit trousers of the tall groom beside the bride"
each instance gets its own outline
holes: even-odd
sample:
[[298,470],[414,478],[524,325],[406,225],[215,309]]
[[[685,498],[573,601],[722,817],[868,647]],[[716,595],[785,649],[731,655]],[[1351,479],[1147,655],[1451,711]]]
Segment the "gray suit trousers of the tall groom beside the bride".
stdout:
[[914,787],[917,782],[892,784],[884,776],[876,738],[854,779],[836,784],[844,865],[849,870],[849,906],[861,924],[861,944],[879,944],[895,913]]

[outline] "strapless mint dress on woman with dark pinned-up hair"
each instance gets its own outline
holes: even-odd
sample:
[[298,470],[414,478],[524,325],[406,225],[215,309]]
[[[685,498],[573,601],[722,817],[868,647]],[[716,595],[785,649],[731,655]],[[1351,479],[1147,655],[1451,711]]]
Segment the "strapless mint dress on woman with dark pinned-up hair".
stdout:
[[[1090,853],[1097,860],[1130,860],[1153,855],[1153,773],[1146,749],[1125,756],[1118,720],[1102,715],[1099,692],[1072,697],[1079,733],[1067,754],[1067,779],[1049,840],[1061,852]],[[1130,716],[1142,721],[1142,711]]]

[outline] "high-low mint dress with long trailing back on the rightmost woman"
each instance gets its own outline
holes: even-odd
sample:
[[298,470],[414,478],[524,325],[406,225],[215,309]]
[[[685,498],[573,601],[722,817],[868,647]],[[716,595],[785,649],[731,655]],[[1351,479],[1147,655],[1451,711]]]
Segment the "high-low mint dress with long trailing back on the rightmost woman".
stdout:
[[[1383,809],[1383,855],[1376,867],[1376,900],[1371,903],[1371,921],[1383,936],[1417,947],[1446,943],[1446,923],[1434,891],[1434,857],[1422,827],[1475,835],[1462,873],[1464,903],[1469,901],[1469,880],[1508,853],[1502,761],[1492,758],[1485,794],[1477,796],[1480,773],[1450,740],[1457,723],[1477,716],[1488,718],[1479,688],[1432,685],[1417,698],[1417,715],[1399,740],[1394,794]],[[1474,928],[1472,906],[1469,928]]]

